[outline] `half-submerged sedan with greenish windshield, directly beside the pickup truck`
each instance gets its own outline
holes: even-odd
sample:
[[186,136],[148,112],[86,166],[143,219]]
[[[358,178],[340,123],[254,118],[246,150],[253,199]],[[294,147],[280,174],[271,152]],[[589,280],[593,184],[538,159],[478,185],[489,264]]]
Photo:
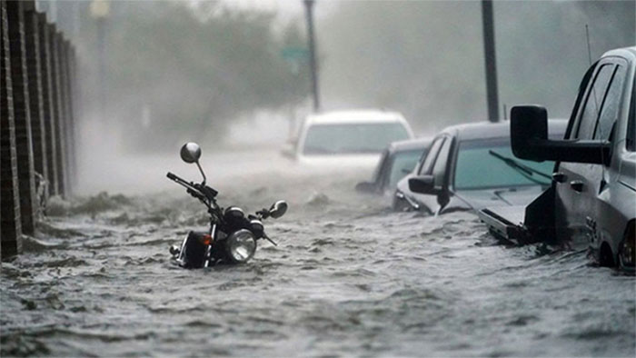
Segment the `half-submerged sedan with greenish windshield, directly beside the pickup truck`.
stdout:
[[[566,121],[552,120],[550,127],[562,137]],[[528,204],[550,186],[553,165],[514,158],[509,122],[454,125],[433,139],[426,158],[398,183],[393,208],[444,214]]]

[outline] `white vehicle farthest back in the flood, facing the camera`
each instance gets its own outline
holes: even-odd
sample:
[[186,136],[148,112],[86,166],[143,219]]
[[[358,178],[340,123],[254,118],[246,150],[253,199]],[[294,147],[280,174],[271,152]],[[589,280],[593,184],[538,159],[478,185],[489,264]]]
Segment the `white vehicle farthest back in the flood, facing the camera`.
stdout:
[[397,112],[311,114],[303,123],[296,145],[284,154],[299,164],[373,168],[388,144],[412,138],[411,127]]

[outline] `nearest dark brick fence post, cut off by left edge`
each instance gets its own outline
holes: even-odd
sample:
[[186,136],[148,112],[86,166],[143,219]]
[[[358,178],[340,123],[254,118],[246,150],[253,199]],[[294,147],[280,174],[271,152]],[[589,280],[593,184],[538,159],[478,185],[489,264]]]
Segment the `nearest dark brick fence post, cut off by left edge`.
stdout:
[[11,57],[6,1],[0,0],[0,256],[22,251]]

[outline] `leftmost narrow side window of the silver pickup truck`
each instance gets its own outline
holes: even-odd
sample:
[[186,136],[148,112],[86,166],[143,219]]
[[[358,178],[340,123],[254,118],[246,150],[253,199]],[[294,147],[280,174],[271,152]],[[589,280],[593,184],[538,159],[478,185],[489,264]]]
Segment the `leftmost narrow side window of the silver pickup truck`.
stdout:
[[614,73],[614,65],[605,64],[599,67],[591,90],[587,94],[587,98],[581,109],[578,128],[574,138],[591,139],[596,127],[596,121],[601,112],[601,104],[604,98],[607,86],[610,84],[611,77]]

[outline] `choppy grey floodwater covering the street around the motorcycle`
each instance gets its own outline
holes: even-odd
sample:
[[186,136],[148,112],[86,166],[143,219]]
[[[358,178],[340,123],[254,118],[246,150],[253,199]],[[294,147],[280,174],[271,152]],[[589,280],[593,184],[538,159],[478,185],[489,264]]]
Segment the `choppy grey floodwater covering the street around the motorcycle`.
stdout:
[[636,355],[634,278],[584,252],[497,243],[468,213],[392,213],[353,193],[361,173],[205,155],[227,169],[209,174],[222,206],[289,202],[265,222],[278,246],[242,266],[175,267],[168,246],[206,218],[164,172],[198,177],[147,159],[152,190],[54,200],[2,264],[0,355]]

